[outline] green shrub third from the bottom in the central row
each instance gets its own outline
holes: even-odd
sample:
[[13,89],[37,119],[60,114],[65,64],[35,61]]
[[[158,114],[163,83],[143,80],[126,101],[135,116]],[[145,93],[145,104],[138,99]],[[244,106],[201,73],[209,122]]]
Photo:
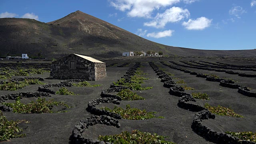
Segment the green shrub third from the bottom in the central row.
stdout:
[[122,100],[145,100],[145,98],[143,98],[142,96],[139,96],[138,94],[128,89],[121,90],[116,95],[120,96]]

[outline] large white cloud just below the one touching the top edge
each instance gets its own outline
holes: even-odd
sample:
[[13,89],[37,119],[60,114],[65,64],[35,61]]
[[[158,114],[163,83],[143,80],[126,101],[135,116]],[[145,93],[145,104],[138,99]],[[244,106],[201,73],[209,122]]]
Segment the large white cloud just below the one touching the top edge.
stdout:
[[190,13],[188,9],[172,7],[165,10],[164,13],[157,14],[151,22],[145,22],[144,26],[153,26],[155,28],[164,28],[168,22],[178,22],[184,18],[188,18]]

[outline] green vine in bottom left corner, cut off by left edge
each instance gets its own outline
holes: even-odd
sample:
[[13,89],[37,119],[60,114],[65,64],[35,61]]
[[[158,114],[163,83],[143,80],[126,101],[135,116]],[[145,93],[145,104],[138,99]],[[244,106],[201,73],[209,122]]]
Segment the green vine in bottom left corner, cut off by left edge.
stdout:
[[0,142],[26,136],[26,134],[21,134],[23,130],[18,127],[21,122],[29,123],[26,120],[8,121],[0,111]]

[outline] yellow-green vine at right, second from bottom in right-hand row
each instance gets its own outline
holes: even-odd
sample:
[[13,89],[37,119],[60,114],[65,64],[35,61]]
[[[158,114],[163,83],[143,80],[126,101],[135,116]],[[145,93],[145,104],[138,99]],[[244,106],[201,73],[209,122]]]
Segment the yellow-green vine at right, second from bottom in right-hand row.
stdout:
[[215,106],[210,106],[210,104],[206,103],[204,107],[207,108],[210,112],[214,114],[218,114],[220,116],[233,116],[236,118],[244,118],[244,116],[236,114],[234,110],[232,110],[231,108],[226,108],[224,106],[218,105],[217,107],[215,107]]

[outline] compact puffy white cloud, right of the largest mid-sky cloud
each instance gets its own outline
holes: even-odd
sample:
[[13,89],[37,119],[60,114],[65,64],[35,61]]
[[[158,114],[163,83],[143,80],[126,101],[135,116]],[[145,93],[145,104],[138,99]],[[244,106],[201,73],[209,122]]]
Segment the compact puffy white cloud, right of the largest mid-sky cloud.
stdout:
[[203,30],[209,27],[212,20],[206,17],[197,18],[196,20],[189,19],[188,22],[183,22],[182,25],[185,26],[187,30]]

